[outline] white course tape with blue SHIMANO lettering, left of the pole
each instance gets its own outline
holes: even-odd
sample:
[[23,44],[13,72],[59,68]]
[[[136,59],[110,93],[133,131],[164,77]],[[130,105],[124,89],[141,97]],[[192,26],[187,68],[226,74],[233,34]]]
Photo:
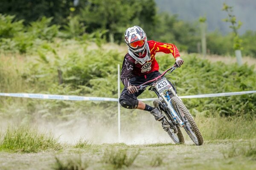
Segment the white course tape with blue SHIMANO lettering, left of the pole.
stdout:
[[118,102],[116,98],[108,97],[86,97],[86,96],[67,96],[55,94],[34,94],[34,93],[0,93],[0,96],[23,97],[33,99],[55,99],[55,100],[76,100],[76,101],[111,101]]

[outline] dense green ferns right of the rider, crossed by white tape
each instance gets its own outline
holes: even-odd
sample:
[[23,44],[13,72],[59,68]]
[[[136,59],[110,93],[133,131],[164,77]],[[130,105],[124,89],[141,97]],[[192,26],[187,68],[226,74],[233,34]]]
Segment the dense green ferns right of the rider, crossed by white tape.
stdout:
[[[225,65],[223,62],[210,63],[206,59],[190,56],[182,69],[175,70],[175,84],[178,95],[224,93],[251,91],[255,88],[256,73],[253,66],[237,64]],[[221,116],[254,115],[256,113],[256,94],[184,99],[185,104],[195,115]]]

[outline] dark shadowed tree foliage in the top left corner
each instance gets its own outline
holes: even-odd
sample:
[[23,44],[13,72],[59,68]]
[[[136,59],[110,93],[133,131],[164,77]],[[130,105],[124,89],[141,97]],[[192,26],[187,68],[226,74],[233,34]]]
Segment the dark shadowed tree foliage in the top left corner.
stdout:
[[[87,0],[80,1],[76,8],[80,8]],[[44,16],[53,17],[52,23],[66,23],[72,7],[73,0],[0,0],[0,13],[16,15],[16,19],[24,20],[25,24]]]

